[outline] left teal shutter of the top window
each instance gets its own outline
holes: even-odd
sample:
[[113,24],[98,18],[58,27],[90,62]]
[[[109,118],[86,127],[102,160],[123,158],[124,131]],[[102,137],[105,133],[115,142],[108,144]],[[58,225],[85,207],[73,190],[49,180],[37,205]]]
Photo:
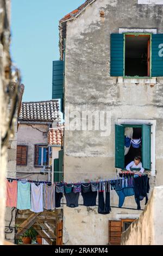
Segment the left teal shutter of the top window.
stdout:
[[123,34],[111,34],[110,76],[123,76]]

